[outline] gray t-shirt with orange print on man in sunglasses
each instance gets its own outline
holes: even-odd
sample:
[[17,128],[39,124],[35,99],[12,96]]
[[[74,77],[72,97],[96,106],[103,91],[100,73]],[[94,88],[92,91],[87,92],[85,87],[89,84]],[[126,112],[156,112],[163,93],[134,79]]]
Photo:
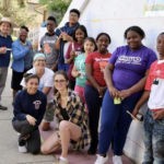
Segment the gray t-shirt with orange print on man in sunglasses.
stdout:
[[40,39],[40,47],[46,55],[46,67],[51,68],[52,65],[57,61],[58,55],[55,49],[55,43],[57,40],[57,35],[48,35],[47,33]]

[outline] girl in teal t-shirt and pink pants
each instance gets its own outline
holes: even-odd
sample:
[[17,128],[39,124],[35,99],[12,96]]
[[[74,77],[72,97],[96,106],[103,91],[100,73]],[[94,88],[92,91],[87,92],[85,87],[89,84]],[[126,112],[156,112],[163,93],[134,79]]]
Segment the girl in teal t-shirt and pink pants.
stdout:
[[83,46],[84,52],[79,55],[74,60],[74,66],[72,69],[72,77],[75,78],[75,87],[74,91],[81,97],[83,103],[85,103],[84,98],[84,86],[86,82],[86,73],[85,73],[85,58],[90,52],[93,52],[96,49],[96,43],[93,37],[86,37]]

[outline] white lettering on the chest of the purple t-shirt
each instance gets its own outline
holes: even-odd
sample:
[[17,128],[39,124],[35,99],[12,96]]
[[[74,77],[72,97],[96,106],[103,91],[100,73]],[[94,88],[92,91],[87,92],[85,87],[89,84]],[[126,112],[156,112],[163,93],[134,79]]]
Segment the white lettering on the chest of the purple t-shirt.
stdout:
[[130,57],[130,56],[119,56],[117,59],[117,62],[121,63],[131,63],[131,65],[141,65],[141,58],[140,57]]

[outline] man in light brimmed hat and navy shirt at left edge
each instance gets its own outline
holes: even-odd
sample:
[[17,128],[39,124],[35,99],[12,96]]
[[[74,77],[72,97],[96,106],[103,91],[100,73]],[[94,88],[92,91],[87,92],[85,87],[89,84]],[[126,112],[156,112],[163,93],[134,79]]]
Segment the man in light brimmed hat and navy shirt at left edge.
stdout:
[[7,110],[5,106],[1,105],[1,95],[5,86],[8,75],[8,67],[10,63],[12,38],[10,36],[12,23],[9,17],[2,17],[0,21],[0,109]]

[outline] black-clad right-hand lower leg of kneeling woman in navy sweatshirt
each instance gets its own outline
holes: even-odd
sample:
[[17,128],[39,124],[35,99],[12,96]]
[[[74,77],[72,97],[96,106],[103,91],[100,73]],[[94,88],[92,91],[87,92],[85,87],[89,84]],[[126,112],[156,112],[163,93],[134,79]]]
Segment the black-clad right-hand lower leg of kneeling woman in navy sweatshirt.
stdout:
[[40,152],[40,134],[38,129],[31,132],[31,137],[26,140],[26,148],[27,152],[32,154]]

